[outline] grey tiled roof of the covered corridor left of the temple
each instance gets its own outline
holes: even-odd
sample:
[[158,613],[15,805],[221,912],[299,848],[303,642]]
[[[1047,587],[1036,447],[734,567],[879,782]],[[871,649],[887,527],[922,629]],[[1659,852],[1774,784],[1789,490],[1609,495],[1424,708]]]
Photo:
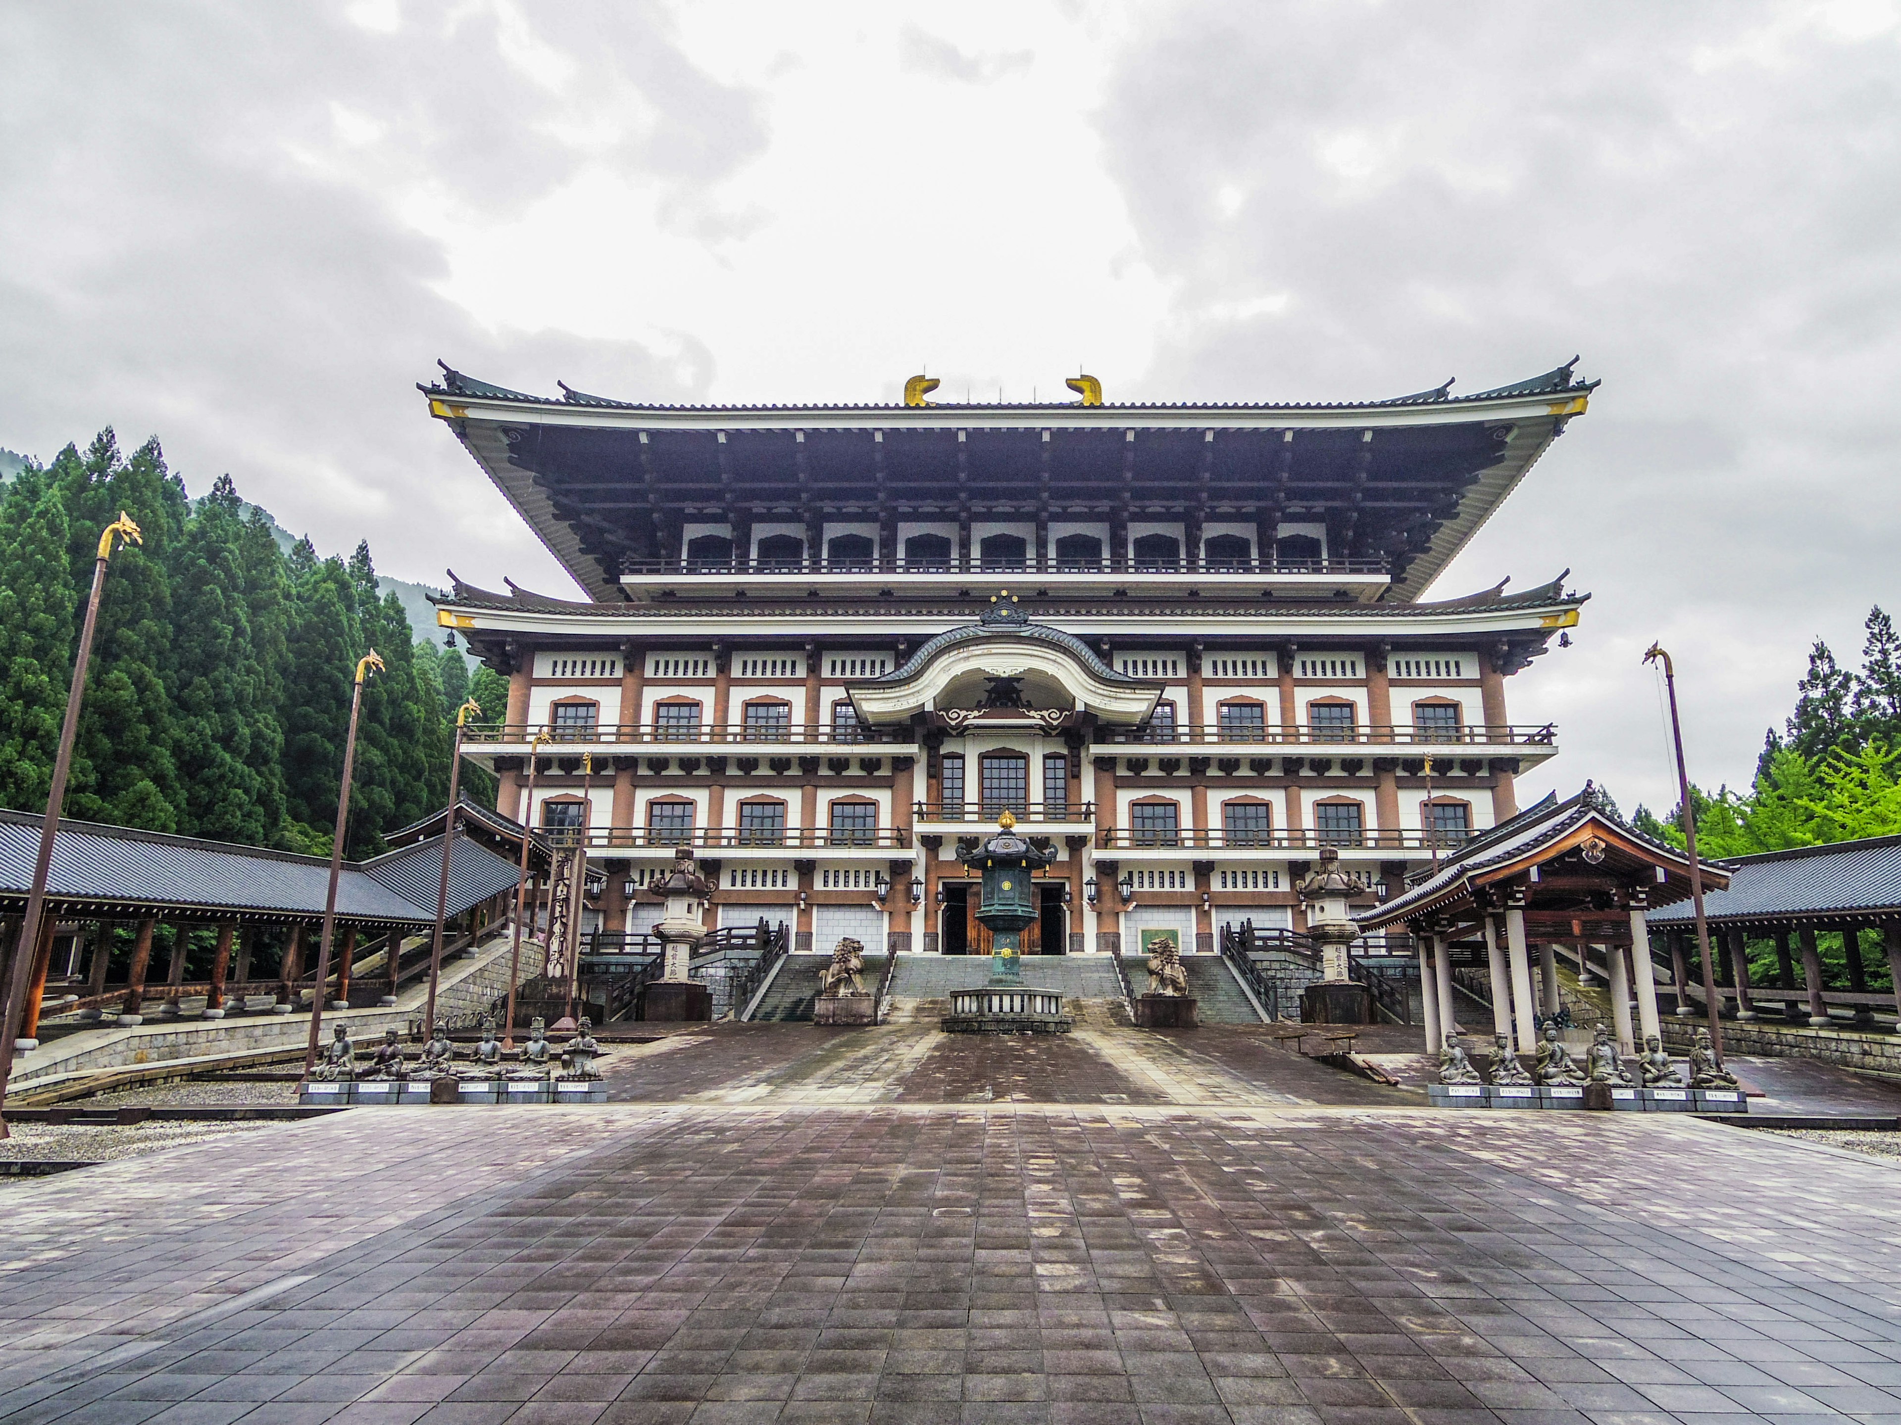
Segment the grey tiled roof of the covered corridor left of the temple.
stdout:
[[[0,811],[0,901],[19,901],[32,885],[44,817]],[[336,882],[336,914],[365,923],[432,923],[441,876],[441,838],[435,870],[422,876],[426,895],[414,899],[420,855],[428,846],[392,851],[369,863],[344,863]],[[466,855],[468,853],[468,855]],[[82,901],[127,910],[316,918],[323,914],[331,863],[323,857],[270,851],[257,846],[165,836],[129,826],[61,821],[53,842],[48,891],[55,901]],[[475,846],[456,842],[451,914],[515,884],[515,866]],[[458,899],[471,893],[473,899]]]

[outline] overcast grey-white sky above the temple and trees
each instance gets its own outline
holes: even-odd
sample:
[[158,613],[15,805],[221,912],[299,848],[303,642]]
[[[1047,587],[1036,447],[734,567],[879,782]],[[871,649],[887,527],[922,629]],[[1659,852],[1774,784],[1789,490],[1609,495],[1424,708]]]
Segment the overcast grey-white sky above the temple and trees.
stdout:
[[[907,11],[911,17],[907,17]],[[1517,720],[1745,783],[1901,604],[1893,4],[0,0],[0,446],[158,433],[384,572],[566,591],[413,384],[1359,399],[1603,376],[1433,595]]]

